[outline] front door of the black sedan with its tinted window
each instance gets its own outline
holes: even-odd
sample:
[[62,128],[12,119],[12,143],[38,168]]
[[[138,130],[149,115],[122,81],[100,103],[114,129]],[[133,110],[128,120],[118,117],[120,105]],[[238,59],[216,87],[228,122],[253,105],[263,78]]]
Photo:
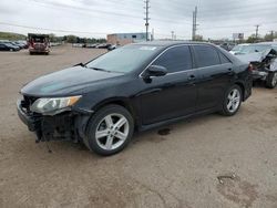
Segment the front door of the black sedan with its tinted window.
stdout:
[[193,72],[188,45],[177,45],[164,51],[153,63],[167,69],[164,76],[144,79],[141,92],[143,124],[153,124],[192,114],[196,104],[196,75]]

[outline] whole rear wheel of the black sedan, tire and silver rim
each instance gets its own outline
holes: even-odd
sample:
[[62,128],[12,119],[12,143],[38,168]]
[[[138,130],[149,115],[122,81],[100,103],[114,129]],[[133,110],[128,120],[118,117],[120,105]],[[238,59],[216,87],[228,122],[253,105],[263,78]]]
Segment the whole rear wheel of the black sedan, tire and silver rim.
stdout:
[[235,115],[240,107],[242,100],[243,100],[242,89],[236,84],[233,85],[225,93],[220,113],[226,116]]

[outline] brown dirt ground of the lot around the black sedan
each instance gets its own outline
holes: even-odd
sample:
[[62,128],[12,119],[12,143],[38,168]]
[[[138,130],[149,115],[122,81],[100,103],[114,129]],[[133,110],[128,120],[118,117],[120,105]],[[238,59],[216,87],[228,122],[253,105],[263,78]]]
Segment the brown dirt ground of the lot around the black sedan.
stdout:
[[69,142],[50,143],[51,154],[35,144],[17,115],[21,86],[101,52],[0,53],[0,207],[277,207],[277,89],[255,87],[233,117],[138,134],[112,157]]

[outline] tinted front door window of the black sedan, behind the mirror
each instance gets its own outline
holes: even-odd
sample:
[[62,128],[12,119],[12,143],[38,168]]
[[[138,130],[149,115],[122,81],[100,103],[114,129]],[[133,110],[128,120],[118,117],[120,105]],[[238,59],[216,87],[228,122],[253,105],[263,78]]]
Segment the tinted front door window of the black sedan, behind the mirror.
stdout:
[[153,65],[162,65],[168,73],[192,69],[192,55],[188,46],[174,46],[165,51]]

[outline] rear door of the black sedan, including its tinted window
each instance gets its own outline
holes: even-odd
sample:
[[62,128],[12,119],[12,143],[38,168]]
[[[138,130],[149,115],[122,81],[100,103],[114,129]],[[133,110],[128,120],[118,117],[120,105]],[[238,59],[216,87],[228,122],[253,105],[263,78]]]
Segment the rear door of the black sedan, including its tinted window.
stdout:
[[224,93],[234,77],[232,62],[215,46],[193,45],[197,66],[197,111],[208,110],[222,103]]

